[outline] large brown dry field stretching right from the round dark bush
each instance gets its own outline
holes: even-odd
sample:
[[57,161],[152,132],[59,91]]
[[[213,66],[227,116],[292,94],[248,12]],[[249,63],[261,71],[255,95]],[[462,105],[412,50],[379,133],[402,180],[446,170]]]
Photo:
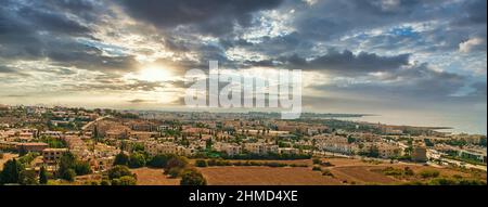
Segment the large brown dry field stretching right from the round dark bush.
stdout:
[[[270,161],[270,160],[268,160]],[[473,176],[459,169],[435,168],[416,164],[390,164],[388,161],[365,161],[350,158],[324,158],[332,166],[322,166],[322,170],[333,176],[322,176],[311,169],[311,160],[274,160],[286,164],[307,164],[308,168],[270,167],[207,167],[198,168],[210,185],[342,185],[342,184],[404,184],[412,181],[426,181],[420,174],[423,171],[438,171],[439,178],[462,177],[486,181],[486,173]],[[386,176],[383,169],[410,168],[414,176]]]

